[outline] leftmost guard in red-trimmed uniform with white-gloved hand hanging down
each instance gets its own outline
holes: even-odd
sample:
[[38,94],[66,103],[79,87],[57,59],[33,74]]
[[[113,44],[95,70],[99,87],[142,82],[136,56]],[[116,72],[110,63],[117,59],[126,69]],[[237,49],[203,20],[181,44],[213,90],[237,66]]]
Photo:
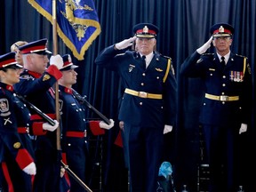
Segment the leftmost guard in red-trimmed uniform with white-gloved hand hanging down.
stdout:
[[3,190],[29,192],[36,174],[34,151],[28,137],[30,114],[13,91],[13,84],[20,81],[21,69],[14,52],[0,56],[0,163]]

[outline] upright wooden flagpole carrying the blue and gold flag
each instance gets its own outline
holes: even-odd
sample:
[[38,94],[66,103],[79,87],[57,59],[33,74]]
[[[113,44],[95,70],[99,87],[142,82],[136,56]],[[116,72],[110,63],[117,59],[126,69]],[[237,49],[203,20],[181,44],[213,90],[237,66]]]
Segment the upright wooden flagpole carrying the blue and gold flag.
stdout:
[[[53,39],[53,55],[58,53],[58,41],[57,41],[57,18],[56,18],[56,0],[52,0],[52,39]],[[59,107],[59,84],[55,83],[55,113],[56,119],[60,122],[60,107]],[[56,146],[57,150],[60,150],[60,125],[56,130]]]

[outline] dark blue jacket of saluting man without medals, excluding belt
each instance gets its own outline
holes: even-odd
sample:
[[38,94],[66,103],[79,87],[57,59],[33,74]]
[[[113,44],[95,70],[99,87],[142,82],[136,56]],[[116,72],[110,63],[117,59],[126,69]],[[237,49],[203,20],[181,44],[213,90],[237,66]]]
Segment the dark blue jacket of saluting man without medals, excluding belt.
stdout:
[[[120,54],[118,54],[120,53]],[[119,112],[119,120],[133,125],[148,127],[174,125],[176,120],[176,80],[171,68],[167,68],[167,58],[154,52],[148,68],[141,65],[140,53],[116,51],[114,45],[104,49],[95,63],[119,73],[125,88],[136,92],[162,94],[163,100],[145,99],[124,93]],[[167,70],[167,77],[164,76]]]

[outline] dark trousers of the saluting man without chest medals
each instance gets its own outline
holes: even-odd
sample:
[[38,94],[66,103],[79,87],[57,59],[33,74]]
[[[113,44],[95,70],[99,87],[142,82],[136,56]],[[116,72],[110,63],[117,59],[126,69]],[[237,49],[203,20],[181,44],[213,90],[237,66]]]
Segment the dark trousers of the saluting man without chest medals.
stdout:
[[164,147],[164,127],[124,122],[131,192],[155,192]]

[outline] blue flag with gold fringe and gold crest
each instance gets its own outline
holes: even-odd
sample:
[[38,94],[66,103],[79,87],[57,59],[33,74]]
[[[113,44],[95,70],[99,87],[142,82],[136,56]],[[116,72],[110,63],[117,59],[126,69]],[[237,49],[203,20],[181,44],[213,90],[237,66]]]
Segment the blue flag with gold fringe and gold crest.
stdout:
[[[28,0],[52,23],[52,0]],[[100,35],[100,22],[93,0],[56,0],[57,33],[77,60]]]

